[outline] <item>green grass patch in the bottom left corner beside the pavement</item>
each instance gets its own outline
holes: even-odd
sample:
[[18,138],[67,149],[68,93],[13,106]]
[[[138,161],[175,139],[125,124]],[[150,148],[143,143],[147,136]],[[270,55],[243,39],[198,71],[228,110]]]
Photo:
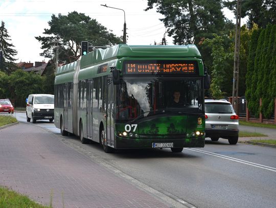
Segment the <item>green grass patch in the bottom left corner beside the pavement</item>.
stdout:
[[0,187],[0,207],[51,208],[50,206],[38,204],[35,201],[29,199],[27,196],[18,194],[4,187]]

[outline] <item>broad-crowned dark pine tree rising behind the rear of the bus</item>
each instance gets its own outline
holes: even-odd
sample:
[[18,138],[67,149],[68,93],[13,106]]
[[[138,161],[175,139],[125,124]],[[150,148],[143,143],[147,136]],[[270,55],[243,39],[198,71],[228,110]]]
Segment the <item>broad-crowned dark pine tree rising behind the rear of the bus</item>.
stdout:
[[48,22],[50,29],[44,29],[47,36],[35,37],[41,42],[41,56],[54,59],[58,45],[59,60],[67,63],[80,57],[81,41],[89,41],[91,45],[113,45],[122,43],[119,37],[107,31],[96,19],[91,19],[76,11],[68,15],[52,15]]

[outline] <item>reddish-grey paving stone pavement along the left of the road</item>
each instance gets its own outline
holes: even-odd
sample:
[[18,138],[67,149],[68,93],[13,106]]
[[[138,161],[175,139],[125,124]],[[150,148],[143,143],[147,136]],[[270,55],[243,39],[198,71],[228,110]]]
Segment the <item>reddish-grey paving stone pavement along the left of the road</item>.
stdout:
[[171,207],[47,130],[19,123],[0,129],[0,186],[53,207]]

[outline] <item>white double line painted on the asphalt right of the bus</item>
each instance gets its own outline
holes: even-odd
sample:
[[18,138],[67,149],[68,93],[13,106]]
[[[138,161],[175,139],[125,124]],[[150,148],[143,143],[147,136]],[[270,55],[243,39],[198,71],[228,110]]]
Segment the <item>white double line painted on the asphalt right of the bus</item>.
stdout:
[[235,158],[235,157],[229,157],[229,156],[226,156],[226,155],[221,155],[221,154],[217,154],[217,153],[213,153],[213,152],[208,152],[208,151],[198,150],[198,149],[192,149],[192,148],[185,148],[185,149],[195,151],[195,152],[200,152],[200,153],[203,153],[203,154],[209,154],[209,155],[212,155],[212,156],[215,156],[215,157],[220,157],[220,158],[223,158],[223,159],[232,160],[232,161],[235,161],[237,163],[246,164],[248,166],[254,166],[254,167],[257,167],[257,168],[262,168],[262,169],[265,169],[265,170],[276,172],[276,168],[273,168],[273,167],[270,167],[270,166],[264,166],[264,165],[261,165],[261,164],[258,164],[258,163],[251,163],[249,161],[245,161],[245,160],[238,159],[238,158]]

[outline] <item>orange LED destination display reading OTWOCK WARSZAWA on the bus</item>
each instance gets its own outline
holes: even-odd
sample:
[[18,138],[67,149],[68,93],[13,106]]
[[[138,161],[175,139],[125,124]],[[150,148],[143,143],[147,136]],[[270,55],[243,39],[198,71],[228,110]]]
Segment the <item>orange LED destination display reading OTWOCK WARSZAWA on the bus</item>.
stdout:
[[196,61],[127,61],[126,74],[196,74]]

